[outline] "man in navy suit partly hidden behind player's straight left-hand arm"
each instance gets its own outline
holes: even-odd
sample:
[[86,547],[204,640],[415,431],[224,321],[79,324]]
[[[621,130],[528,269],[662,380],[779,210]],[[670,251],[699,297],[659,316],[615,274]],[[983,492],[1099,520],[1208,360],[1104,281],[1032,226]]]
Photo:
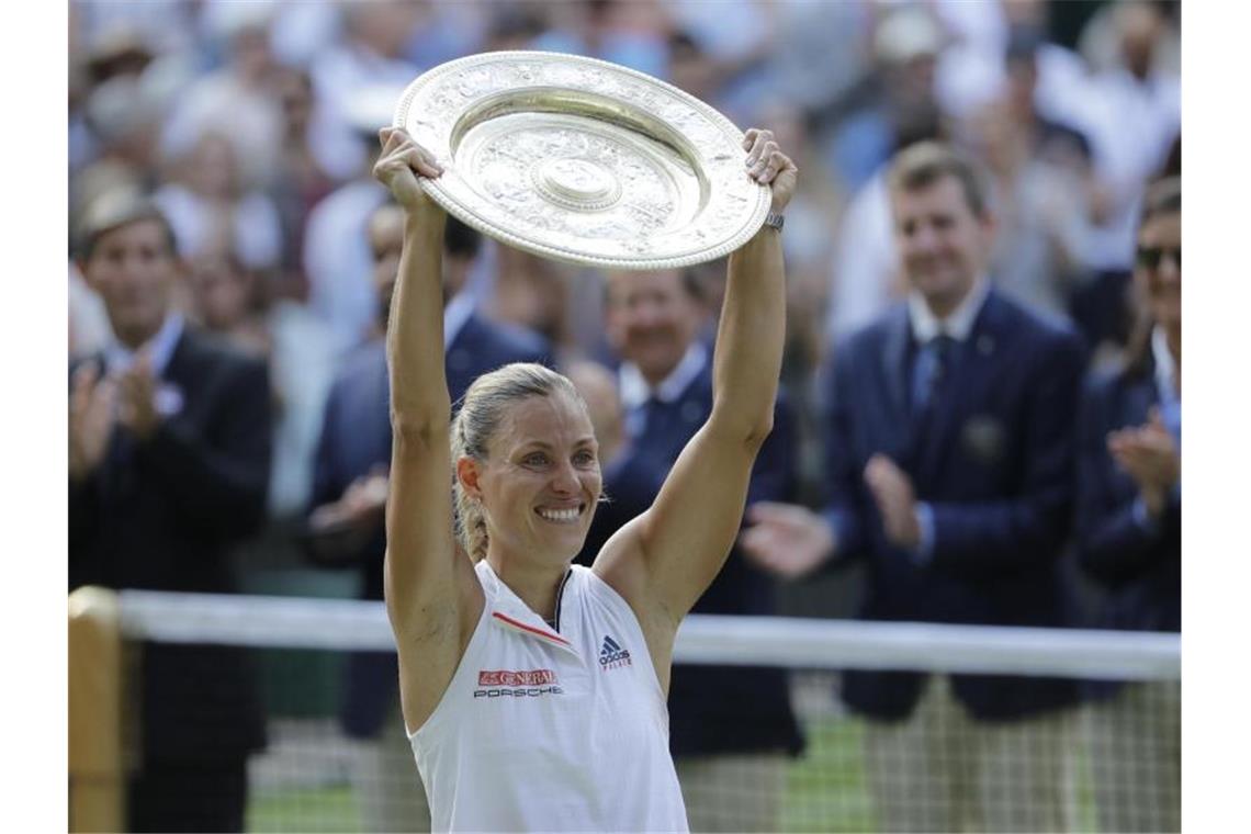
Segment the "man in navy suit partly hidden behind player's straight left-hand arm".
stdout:
[[[385,333],[404,213],[390,203],[380,206],[368,231],[379,298],[377,328],[374,338],[349,355],[330,389],[314,470],[310,546],[323,564],[355,566],[362,598],[380,600],[392,440]],[[448,218],[443,328],[453,403],[473,380],[500,365],[550,363],[543,339],[489,321],[474,310],[473,296],[464,288],[479,245],[477,231]],[[360,740],[354,789],[363,826],[372,831],[429,830],[425,795],[400,718],[395,654],[353,654],[347,671],[340,719],[347,733]]]

